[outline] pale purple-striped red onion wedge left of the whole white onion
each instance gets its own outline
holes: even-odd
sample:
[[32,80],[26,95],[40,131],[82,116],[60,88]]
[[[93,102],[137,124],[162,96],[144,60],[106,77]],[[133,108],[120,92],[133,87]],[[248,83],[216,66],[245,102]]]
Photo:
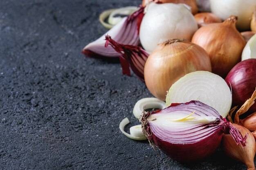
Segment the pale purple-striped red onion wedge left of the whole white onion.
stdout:
[[144,7],[140,7],[136,12],[125,17],[99,39],[85,46],[83,53],[92,57],[97,57],[98,55],[119,57],[117,51],[110,47],[105,47],[105,35],[111,35],[112,38],[120,44],[137,46],[139,44],[139,25],[144,15],[143,11]]

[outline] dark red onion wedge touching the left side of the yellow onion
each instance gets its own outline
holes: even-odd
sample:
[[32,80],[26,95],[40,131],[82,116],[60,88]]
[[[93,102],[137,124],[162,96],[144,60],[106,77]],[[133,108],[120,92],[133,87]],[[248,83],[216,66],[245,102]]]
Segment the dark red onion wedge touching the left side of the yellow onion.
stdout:
[[148,58],[148,52],[140,46],[123,45],[115,42],[109,35],[106,35],[106,44],[112,46],[119,53],[123,74],[130,75],[130,68],[144,82],[144,66]]

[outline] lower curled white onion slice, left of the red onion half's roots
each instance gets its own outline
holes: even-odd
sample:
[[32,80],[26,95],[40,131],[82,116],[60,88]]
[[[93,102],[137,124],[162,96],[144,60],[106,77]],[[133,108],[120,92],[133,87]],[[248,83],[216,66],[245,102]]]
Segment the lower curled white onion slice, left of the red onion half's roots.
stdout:
[[130,139],[134,139],[134,140],[146,140],[147,138],[143,135],[142,132],[142,128],[141,125],[135,125],[130,127],[130,134],[124,131],[124,127],[129,124],[130,121],[129,119],[126,117],[124,118],[120,124],[119,124],[119,129],[121,130],[121,132],[126,135],[128,138]]

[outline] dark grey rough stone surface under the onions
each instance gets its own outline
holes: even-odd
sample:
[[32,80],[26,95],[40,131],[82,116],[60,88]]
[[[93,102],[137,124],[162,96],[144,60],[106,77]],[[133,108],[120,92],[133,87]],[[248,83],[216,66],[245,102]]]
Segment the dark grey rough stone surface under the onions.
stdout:
[[119,131],[124,117],[137,124],[132,108],[151,95],[118,62],[81,49],[107,31],[101,11],[140,2],[0,1],[1,170],[246,169],[221,150],[193,165],[160,159]]

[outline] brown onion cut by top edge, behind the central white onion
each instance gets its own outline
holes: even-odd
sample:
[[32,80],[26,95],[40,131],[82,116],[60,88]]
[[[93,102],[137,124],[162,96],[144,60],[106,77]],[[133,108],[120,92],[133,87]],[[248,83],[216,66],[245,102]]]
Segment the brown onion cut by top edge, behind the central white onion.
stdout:
[[[148,2],[151,2],[151,1],[153,1],[153,0],[143,0],[142,1],[142,6],[145,7],[146,4],[148,4]],[[193,13],[193,15],[198,13],[198,7],[197,7],[197,4],[196,4],[196,0],[157,0],[157,2],[175,3],[175,4],[184,3],[184,4],[187,4],[191,7],[191,12]]]

